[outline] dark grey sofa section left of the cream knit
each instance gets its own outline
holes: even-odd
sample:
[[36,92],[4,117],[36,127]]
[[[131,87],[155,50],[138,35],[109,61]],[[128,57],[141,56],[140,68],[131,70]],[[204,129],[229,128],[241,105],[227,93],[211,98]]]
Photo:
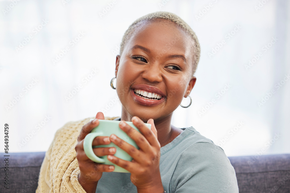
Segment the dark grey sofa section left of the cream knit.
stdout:
[[[4,157],[4,155],[10,155]],[[8,173],[9,189],[4,188],[3,183],[0,186],[0,192],[35,192],[38,183],[38,176],[41,163],[44,159],[45,152],[29,153],[0,153],[1,172],[0,178],[4,179],[5,173]],[[8,158],[9,168],[4,172],[5,161]],[[3,181],[3,180],[1,180]]]

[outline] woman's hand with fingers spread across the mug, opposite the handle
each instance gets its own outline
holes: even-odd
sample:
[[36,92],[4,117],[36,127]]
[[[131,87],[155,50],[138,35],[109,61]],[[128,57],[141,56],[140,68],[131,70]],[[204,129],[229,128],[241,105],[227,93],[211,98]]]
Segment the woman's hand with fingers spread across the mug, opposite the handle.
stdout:
[[147,122],[151,124],[151,130],[137,116],[132,117],[131,121],[143,135],[124,121],[120,122],[119,127],[136,142],[139,150],[112,134],[110,140],[127,152],[133,160],[126,161],[113,155],[108,155],[108,160],[131,173],[131,181],[138,192],[164,192],[159,170],[161,146],[154,121],[149,119]]

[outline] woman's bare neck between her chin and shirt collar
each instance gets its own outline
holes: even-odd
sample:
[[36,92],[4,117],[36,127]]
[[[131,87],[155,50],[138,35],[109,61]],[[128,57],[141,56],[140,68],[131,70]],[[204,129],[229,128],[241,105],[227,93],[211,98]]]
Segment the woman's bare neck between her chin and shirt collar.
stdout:
[[[121,120],[122,121],[130,121],[132,117],[135,115],[130,115],[124,107],[122,107],[122,115]],[[160,143],[160,146],[163,147],[166,144],[170,142],[171,135],[172,135],[172,129],[171,129],[171,117],[172,113],[170,113],[168,116],[160,118],[160,119],[153,119],[154,125],[157,130],[157,139]],[[142,117],[139,117],[144,123],[147,123],[147,121],[150,119],[143,119]]]

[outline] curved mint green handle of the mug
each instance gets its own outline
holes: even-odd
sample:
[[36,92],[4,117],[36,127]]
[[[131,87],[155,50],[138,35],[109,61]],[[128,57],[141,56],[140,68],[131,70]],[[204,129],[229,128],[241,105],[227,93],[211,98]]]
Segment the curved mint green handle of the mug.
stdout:
[[93,140],[97,136],[102,136],[102,133],[94,132],[94,133],[89,133],[88,135],[86,135],[84,139],[84,152],[90,160],[97,163],[105,163],[104,159],[97,157],[95,153],[93,152],[92,144],[93,144]]

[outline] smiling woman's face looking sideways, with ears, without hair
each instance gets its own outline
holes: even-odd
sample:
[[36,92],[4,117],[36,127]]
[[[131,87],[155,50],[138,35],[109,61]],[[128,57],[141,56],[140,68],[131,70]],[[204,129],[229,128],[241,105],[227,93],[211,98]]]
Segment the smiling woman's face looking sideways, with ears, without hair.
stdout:
[[[170,115],[195,84],[192,53],[191,38],[173,22],[155,20],[139,26],[116,58],[122,111],[142,120]],[[151,99],[136,95],[136,90],[148,92]],[[162,97],[152,100],[157,94]]]

